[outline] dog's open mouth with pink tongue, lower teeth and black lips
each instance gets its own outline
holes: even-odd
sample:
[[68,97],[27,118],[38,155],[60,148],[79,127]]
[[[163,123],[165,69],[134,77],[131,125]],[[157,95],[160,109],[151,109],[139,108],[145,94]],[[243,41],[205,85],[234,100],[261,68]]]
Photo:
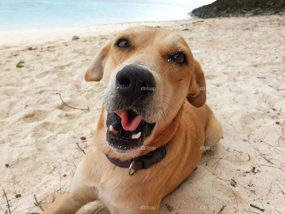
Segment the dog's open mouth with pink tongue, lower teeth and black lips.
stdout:
[[121,109],[107,114],[106,140],[118,152],[127,152],[143,145],[155,123],[146,122],[136,111]]

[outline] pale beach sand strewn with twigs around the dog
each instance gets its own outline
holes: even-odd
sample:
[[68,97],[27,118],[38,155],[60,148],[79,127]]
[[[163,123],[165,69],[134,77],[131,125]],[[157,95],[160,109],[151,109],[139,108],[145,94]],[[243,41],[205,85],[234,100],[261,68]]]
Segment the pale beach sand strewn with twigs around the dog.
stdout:
[[[185,36],[205,73],[206,103],[224,129],[215,150],[164,198],[159,213],[284,214],[284,16],[149,24]],[[125,28],[0,32],[0,186],[11,213],[41,213],[34,194],[45,209],[68,188],[84,157],[77,143],[88,151],[101,108],[102,84],[85,82],[85,70]],[[80,39],[72,41],[74,35]],[[24,67],[17,68],[22,58]],[[90,111],[69,108],[57,93],[66,104]],[[88,205],[78,213],[109,213],[99,201]],[[5,197],[0,208],[8,210]]]

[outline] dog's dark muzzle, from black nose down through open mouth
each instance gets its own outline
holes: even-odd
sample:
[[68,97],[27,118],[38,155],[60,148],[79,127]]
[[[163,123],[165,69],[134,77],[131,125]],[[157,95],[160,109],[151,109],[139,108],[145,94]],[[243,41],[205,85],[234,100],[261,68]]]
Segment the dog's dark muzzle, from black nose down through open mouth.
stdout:
[[107,109],[106,140],[116,151],[128,152],[141,147],[155,126],[146,118],[156,84],[148,69],[128,65],[117,73],[115,87]]

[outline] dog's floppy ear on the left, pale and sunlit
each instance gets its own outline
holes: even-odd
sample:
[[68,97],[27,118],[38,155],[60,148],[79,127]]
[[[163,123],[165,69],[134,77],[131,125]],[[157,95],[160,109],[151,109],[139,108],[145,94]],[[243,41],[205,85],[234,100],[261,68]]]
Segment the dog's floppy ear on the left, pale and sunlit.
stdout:
[[112,43],[113,41],[110,41],[104,48],[102,48],[91,65],[88,67],[85,73],[86,81],[100,81],[102,79],[105,63],[111,50]]

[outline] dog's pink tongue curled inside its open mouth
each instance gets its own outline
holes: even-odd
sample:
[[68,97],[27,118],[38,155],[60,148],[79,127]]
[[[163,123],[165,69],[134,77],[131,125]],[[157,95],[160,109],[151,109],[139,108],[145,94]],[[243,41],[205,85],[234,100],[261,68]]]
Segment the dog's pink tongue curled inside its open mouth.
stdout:
[[121,117],[123,129],[126,131],[134,131],[143,119],[140,115],[135,118],[129,118],[128,112],[125,109],[115,111],[115,113]]

